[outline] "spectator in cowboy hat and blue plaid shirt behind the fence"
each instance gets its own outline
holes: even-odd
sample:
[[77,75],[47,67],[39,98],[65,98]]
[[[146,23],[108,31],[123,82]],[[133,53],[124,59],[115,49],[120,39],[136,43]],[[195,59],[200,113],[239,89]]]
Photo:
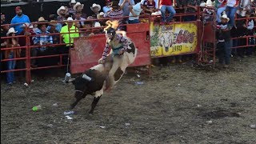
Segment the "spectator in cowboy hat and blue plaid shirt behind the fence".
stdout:
[[[49,48],[49,46],[44,46],[53,44],[53,37],[49,35],[49,31],[46,31],[48,23],[46,23],[47,21],[43,17],[38,18],[38,22],[42,23],[38,24],[39,30],[36,31],[36,35],[34,36],[34,45],[39,46],[39,48],[32,48],[31,56],[45,56],[46,54],[52,54],[53,49]],[[48,63],[44,58],[38,58],[37,62],[40,65],[47,65],[46,63]]]

